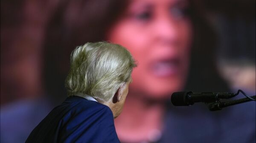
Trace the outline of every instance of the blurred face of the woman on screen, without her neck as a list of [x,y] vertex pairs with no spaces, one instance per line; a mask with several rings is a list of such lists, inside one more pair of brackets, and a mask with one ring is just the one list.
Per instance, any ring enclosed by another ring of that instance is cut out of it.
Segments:
[[189,67],[192,25],[184,0],[131,0],[108,40],[138,61],[130,93],[163,99],[182,90]]

